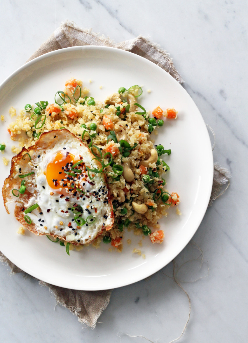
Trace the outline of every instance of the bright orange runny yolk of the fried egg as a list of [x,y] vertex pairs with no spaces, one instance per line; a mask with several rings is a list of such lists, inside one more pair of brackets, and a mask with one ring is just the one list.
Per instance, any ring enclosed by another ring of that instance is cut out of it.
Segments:
[[[71,163],[71,162],[75,164],[76,162],[78,162],[78,159],[76,159],[75,156],[71,153],[59,152],[54,158],[54,160],[51,163],[49,163],[47,166],[46,177],[47,177],[48,185],[51,188],[56,189],[57,192],[60,188],[67,187],[67,186],[63,186],[63,184],[64,185],[66,184],[66,181],[67,181],[66,178],[69,176],[68,174],[64,173],[64,167],[66,166],[66,163]],[[63,184],[61,186],[60,181],[62,179],[63,179],[62,181]]]

